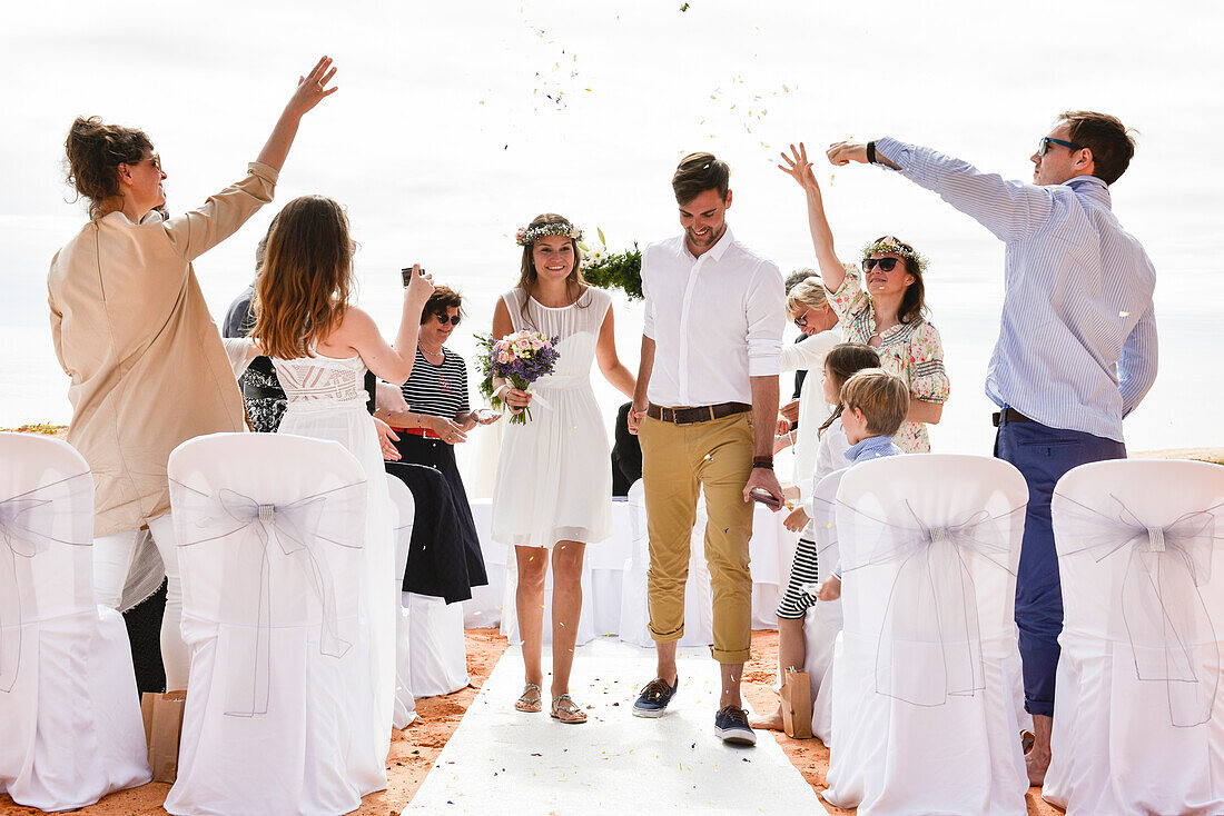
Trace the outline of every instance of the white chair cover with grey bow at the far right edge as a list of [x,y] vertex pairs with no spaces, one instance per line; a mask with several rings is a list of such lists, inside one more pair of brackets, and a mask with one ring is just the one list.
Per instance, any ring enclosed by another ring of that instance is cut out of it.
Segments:
[[1224,812],[1224,469],[1082,465],[1050,514],[1064,618],[1045,800]]

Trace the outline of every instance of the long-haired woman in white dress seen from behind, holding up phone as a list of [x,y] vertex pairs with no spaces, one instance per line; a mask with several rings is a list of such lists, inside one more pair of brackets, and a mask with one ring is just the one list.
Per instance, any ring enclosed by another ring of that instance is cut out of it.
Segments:
[[[387,787],[395,691],[395,604],[387,580],[395,569],[390,497],[375,418],[366,410],[366,368],[403,384],[412,371],[421,310],[433,291],[414,267],[404,290],[395,344],[387,345],[373,319],[349,305],[353,241],[344,210],[330,198],[304,196],[285,206],[268,236],[256,284],[253,341],[236,341],[242,360],[272,358],[289,405],[279,433],[338,442],[366,472],[361,613],[370,624],[371,688],[354,690],[357,712],[368,712],[367,735],[353,745],[349,771],[365,795]],[[235,351],[235,341],[226,345]]]

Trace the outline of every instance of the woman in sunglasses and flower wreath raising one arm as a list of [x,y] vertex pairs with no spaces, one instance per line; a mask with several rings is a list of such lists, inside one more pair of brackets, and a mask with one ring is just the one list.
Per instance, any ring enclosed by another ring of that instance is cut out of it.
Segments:
[[[834,234],[825,218],[820,185],[808,161],[808,150],[792,144],[780,170],[803,187],[808,198],[808,226],[846,343],[864,343],[880,354],[880,367],[900,376],[909,387],[909,411],[892,440],[907,454],[930,450],[927,425],[939,422],[947,401],[944,345],[939,330],[927,321],[923,274],[927,258],[891,236],[863,247],[862,264],[842,264],[834,252]],[[867,287],[863,287],[863,276]]]

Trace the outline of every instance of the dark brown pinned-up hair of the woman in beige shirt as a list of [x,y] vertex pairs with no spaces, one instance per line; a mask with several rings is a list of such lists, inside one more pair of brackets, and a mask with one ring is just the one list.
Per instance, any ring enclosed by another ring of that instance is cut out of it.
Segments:
[[64,142],[67,182],[89,199],[89,220],[119,209],[119,165],[136,164],[153,152],[144,131],[106,125],[98,116],[77,116]]

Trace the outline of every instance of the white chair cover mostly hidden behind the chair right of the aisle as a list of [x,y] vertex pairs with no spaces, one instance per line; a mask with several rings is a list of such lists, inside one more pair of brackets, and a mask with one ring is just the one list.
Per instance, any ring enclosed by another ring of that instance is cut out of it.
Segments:
[[[812,526],[816,537],[816,564],[821,582],[836,571],[841,562],[834,508],[845,473],[845,469],[829,473],[816,483],[812,494]],[[813,587],[813,595],[815,588],[818,587]],[[803,670],[812,679],[812,734],[829,747],[832,747],[834,644],[841,628],[841,598],[818,602],[808,610],[803,623],[803,639],[807,644]]]

